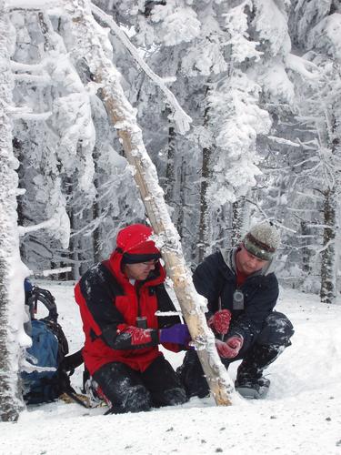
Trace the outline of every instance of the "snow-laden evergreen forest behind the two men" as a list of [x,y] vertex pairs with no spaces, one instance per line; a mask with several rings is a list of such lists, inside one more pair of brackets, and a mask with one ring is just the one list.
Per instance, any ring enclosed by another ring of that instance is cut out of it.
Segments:
[[267,219],[281,285],[335,304],[340,62],[339,0],[0,0],[3,295],[145,222],[133,119],[190,267]]

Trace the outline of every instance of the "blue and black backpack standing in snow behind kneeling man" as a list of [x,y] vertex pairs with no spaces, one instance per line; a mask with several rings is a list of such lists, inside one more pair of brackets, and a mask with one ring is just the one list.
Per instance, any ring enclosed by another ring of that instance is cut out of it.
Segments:
[[[35,319],[39,303],[48,310],[48,315],[43,319]],[[38,404],[54,401],[63,393],[78,401],[70,384],[70,376],[83,363],[82,352],[79,350],[67,356],[68,343],[57,322],[54,296],[47,289],[32,286],[26,280],[25,305],[29,314],[25,330],[32,338],[31,348],[26,349],[28,368],[21,373],[25,402]]]

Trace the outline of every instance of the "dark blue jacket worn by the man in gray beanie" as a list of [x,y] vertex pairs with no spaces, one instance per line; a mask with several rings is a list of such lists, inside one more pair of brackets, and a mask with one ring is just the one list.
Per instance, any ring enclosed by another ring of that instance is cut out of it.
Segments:
[[234,254],[229,252],[227,259],[220,251],[208,256],[199,264],[193,276],[196,291],[208,300],[208,315],[221,307],[232,313],[230,329],[226,338],[240,334],[247,348],[260,333],[267,316],[272,312],[278,298],[278,282],[274,273],[262,272],[250,275],[240,287],[244,294],[244,309],[233,309],[233,294],[236,286]]

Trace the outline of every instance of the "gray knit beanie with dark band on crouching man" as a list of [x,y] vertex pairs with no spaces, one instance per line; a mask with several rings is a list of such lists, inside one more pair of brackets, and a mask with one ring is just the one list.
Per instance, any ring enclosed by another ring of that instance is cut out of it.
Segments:
[[270,260],[279,247],[281,238],[273,223],[262,221],[251,227],[243,240],[243,245],[256,258]]

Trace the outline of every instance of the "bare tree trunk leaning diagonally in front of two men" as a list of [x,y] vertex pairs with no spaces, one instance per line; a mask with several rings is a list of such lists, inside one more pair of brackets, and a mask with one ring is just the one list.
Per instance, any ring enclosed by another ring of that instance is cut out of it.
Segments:
[[65,4],[71,16],[71,32],[74,47],[69,49],[75,60],[85,58],[101,85],[102,97],[108,115],[118,130],[125,157],[134,169],[134,177],[149,220],[157,234],[156,242],[162,250],[167,274],[172,278],[176,297],[183,311],[192,339],[196,343],[198,357],[203,365],[207,383],[216,403],[229,405],[238,400],[233,383],[228,377],[216,352],[215,337],[206,326],[206,302],[196,294],[192,278],[183,257],[176,228],[171,222],[164,194],[158,185],[155,166],[145,151],[141,129],[136,124],[135,110],[125,98],[120,75],[105,55],[108,48],[106,32],[101,32],[91,15],[87,0],[75,0]]

